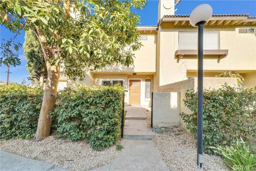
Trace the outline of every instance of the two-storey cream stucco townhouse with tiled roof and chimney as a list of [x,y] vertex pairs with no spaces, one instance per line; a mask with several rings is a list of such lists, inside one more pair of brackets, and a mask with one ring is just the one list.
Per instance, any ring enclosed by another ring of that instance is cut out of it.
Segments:
[[[234,71],[243,76],[245,87],[256,86],[256,17],[213,15],[204,28],[204,77]],[[189,15],[174,15],[174,0],[159,1],[157,26],[138,29],[143,46],[135,52],[133,67],[89,71],[79,83],[111,86],[119,82],[127,90],[127,104],[149,105],[151,92],[197,77],[197,28],[190,25]],[[61,78],[59,86],[74,85]]]

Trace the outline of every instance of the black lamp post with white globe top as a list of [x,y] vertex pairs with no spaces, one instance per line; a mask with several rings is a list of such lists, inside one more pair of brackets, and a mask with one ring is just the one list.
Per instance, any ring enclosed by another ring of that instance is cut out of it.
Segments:
[[212,7],[208,4],[197,6],[190,14],[190,24],[198,27],[197,60],[197,165],[203,169],[203,32],[204,24],[212,17]]

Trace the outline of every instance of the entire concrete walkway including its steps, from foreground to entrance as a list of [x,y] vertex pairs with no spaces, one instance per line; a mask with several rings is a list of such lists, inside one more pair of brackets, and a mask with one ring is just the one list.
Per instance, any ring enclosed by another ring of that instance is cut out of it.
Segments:
[[146,123],[146,109],[126,107],[122,149],[118,157],[110,164],[95,169],[106,170],[169,170],[162,160],[158,149],[154,147],[153,130]]

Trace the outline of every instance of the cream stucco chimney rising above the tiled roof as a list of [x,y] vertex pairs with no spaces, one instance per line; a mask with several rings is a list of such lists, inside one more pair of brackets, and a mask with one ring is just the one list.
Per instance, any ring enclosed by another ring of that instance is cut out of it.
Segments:
[[159,0],[158,2],[158,18],[163,18],[164,15],[174,15],[174,1],[175,0]]

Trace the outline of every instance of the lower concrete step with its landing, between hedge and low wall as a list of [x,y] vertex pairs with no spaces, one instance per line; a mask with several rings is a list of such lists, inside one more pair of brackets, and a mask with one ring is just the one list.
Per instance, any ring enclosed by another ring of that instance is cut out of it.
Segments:
[[124,139],[151,140],[154,139],[154,133],[146,120],[128,119],[125,120]]

